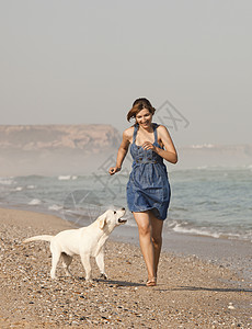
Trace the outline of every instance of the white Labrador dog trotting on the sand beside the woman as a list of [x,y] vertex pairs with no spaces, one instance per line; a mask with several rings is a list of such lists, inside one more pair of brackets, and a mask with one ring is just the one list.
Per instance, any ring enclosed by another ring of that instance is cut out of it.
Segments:
[[36,236],[25,239],[23,242],[26,243],[37,240],[50,242],[51,279],[56,277],[56,266],[60,257],[66,274],[71,275],[69,265],[75,254],[81,257],[87,281],[92,281],[90,257],[95,258],[102,276],[106,279],[107,275],[104,271],[104,243],[116,226],[127,222],[126,219],[122,219],[125,212],[125,208],[119,211],[106,211],[94,223],[87,227],[62,230],[56,236]]

